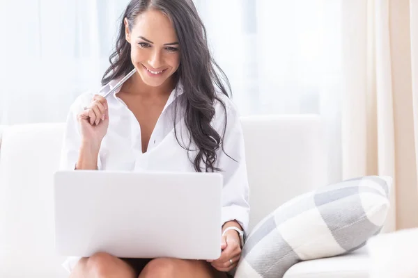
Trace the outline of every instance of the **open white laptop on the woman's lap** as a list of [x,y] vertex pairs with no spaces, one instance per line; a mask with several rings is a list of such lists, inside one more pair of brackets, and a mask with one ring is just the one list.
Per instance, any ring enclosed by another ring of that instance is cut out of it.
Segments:
[[217,259],[221,192],[213,173],[56,172],[56,252]]

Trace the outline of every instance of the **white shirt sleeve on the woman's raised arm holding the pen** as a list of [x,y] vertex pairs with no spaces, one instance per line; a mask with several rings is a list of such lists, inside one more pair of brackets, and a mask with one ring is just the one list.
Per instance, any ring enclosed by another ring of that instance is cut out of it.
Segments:
[[[82,112],[84,109],[83,107],[88,105],[90,101],[91,94],[85,93],[77,97],[70,107],[63,134],[63,145],[61,147],[61,160],[59,165],[60,170],[75,170],[82,142],[77,115]],[[100,156],[98,156],[98,170],[101,170],[101,164]]]

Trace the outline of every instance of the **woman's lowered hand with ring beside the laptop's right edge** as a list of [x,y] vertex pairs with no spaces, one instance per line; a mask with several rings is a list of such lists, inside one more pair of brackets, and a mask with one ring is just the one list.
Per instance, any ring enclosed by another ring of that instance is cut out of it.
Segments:
[[221,249],[219,259],[208,262],[219,271],[229,272],[237,266],[241,258],[240,236],[237,231],[229,230],[222,236]]

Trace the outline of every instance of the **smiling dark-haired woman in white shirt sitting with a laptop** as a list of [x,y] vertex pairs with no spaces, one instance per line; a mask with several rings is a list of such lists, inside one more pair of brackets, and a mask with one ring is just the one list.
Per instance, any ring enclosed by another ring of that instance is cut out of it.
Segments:
[[[248,222],[244,141],[192,0],[130,1],[110,61],[109,85],[70,109],[61,169],[221,172],[222,254],[189,261],[98,253],[66,261],[70,277],[226,277]],[[114,95],[101,96],[134,68]]]

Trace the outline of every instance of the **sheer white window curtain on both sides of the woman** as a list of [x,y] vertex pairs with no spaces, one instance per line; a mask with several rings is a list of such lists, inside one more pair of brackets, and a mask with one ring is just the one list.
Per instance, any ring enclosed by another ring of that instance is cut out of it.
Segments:
[[[0,124],[62,122],[98,88],[128,0],[0,2]],[[341,179],[341,1],[195,0],[242,115],[323,116]]]

